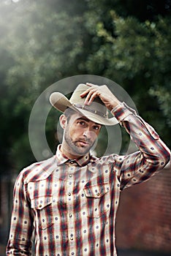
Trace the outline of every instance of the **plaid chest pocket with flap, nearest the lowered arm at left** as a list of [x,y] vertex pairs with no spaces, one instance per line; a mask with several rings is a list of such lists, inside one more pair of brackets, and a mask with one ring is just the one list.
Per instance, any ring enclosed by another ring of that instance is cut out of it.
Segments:
[[35,212],[36,225],[42,230],[53,225],[52,200],[52,195],[43,195],[31,199],[31,208]]

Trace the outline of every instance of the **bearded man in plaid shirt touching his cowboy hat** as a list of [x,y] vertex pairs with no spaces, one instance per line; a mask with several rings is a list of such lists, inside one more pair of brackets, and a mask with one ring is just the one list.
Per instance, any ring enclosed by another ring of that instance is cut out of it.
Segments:
[[[7,255],[30,255],[33,233],[37,256],[117,255],[115,215],[121,190],[161,170],[170,151],[107,86],[80,84],[70,100],[55,92],[50,102],[64,112],[64,137],[54,157],[18,176]],[[118,122],[140,150],[126,156],[91,156],[102,125]]]

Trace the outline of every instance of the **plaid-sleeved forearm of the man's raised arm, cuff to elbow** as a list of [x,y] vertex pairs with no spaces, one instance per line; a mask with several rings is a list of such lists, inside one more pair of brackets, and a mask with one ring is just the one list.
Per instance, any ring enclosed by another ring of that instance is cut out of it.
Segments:
[[125,103],[116,106],[111,111],[134,143],[140,149],[143,160],[153,165],[153,170],[159,170],[170,160],[170,150],[159,138],[156,131],[147,124],[136,112],[127,107]]

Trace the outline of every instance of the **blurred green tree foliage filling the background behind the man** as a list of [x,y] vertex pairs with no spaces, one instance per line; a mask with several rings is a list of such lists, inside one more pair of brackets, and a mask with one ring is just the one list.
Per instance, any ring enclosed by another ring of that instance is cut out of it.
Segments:
[[[170,6],[136,3],[1,1],[1,172],[34,161],[28,142],[34,102],[47,86],[72,75],[101,75],[121,84],[171,146]],[[55,115],[50,113],[46,127],[53,149]]]

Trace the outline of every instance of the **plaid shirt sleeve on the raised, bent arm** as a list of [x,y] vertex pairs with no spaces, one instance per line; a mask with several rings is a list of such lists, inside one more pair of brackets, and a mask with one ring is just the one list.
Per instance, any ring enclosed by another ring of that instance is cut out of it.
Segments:
[[148,180],[163,169],[170,161],[170,150],[153,127],[125,103],[121,103],[111,112],[139,148],[133,154],[115,158],[115,168],[119,169],[122,190]]

